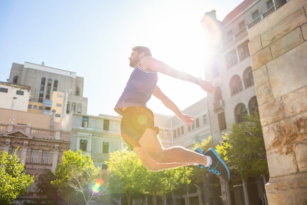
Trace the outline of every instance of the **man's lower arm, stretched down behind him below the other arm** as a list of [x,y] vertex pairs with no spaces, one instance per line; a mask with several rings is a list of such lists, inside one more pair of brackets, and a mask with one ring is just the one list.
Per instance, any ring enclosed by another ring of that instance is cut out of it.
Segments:
[[177,107],[177,105],[175,105],[175,103],[170,100],[162,91],[159,87],[155,87],[153,90],[153,95],[158,98],[159,100],[162,101],[162,103],[169,108],[171,111],[173,111],[175,113],[175,115],[181,119],[184,123],[188,124],[189,126],[191,126],[193,124],[194,121],[194,117],[192,116],[188,116],[185,115],[183,113],[181,113],[181,111],[179,110],[179,108]]

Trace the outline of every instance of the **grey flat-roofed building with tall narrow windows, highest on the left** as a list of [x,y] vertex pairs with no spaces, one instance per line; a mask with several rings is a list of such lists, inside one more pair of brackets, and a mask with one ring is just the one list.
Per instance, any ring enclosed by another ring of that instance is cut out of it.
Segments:
[[[84,79],[78,77],[75,72],[48,67],[44,62],[41,65],[29,62],[13,63],[8,83],[30,87],[30,101],[43,103],[38,106],[46,108],[42,110],[44,114],[51,115],[51,110],[56,110],[56,107],[51,108],[51,96],[54,91],[68,96],[67,102],[62,107],[65,113],[87,113],[87,98],[83,97]],[[29,109],[33,110],[32,107]],[[62,115],[62,113],[56,114]]]

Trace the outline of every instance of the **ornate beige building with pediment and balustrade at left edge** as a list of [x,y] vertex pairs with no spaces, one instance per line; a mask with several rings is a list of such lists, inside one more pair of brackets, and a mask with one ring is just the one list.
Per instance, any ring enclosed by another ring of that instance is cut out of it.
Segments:
[[69,144],[70,130],[62,130],[52,116],[0,108],[0,150],[16,153],[26,174],[34,175],[35,182],[21,199],[40,197],[35,189],[38,176],[45,169],[55,170]]

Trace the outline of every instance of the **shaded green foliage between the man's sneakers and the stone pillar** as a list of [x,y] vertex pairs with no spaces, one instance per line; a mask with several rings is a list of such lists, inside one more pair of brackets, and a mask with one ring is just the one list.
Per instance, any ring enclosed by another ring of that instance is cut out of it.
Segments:
[[230,131],[230,135],[223,135],[225,142],[216,149],[230,170],[237,174],[238,180],[268,175],[262,127],[257,112],[246,116],[244,122],[233,124]]

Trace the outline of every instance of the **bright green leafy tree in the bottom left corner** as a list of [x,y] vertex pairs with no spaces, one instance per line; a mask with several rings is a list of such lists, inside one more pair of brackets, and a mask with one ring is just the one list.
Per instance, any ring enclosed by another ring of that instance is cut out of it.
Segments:
[[0,151],[0,204],[10,205],[19,194],[24,194],[34,176],[26,175],[24,163],[6,151]]

